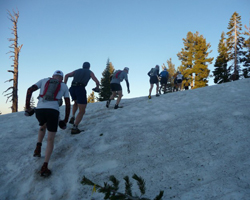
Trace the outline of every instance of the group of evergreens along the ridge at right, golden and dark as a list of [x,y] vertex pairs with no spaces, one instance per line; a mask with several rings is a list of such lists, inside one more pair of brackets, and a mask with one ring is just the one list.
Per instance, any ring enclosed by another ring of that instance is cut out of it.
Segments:
[[[218,57],[214,64],[214,83],[224,83],[241,78],[249,78],[250,75],[250,23],[245,25],[246,31],[242,32],[241,17],[234,12],[228,24],[228,32],[222,32],[218,45]],[[226,37],[227,36],[227,37]],[[245,36],[246,38],[244,38]],[[167,67],[170,72],[170,82],[173,85],[173,77],[180,71],[184,76],[183,84],[188,82],[191,88],[207,86],[211,64],[214,58],[209,57],[212,52],[209,50],[210,43],[206,42],[199,32],[188,32],[183,39],[184,47],[177,54],[181,65],[175,70],[170,60],[167,60]],[[174,70],[173,70],[174,69]],[[173,75],[174,72],[174,75]]]

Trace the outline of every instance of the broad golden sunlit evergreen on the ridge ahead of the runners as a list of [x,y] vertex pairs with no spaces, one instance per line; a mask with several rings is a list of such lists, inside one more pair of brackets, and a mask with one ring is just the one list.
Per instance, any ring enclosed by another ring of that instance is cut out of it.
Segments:
[[[183,41],[184,48],[177,54],[182,63],[178,70],[183,74],[184,79],[191,83],[191,88],[207,86],[210,72],[208,64],[213,61],[213,58],[208,57],[211,53],[208,51],[211,45],[198,32],[195,34],[188,32],[187,38]],[[195,81],[194,85],[193,81]]]

